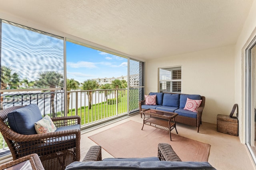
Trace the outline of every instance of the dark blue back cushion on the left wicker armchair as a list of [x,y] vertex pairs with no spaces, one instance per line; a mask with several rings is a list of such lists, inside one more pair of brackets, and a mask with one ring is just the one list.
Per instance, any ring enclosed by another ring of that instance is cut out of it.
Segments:
[[11,111],[7,118],[13,131],[23,135],[34,135],[37,134],[34,123],[42,119],[42,114],[36,104],[30,104]]

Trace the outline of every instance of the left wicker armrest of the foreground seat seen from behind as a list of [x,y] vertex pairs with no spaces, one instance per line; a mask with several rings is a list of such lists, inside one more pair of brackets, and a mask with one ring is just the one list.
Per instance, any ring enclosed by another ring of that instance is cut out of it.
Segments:
[[101,146],[95,145],[90,147],[82,162],[100,161],[102,160]]

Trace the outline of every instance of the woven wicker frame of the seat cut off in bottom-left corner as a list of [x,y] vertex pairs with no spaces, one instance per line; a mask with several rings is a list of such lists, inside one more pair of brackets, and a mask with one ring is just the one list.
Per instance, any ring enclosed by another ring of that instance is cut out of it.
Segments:
[[7,168],[11,168],[12,170],[18,170],[21,168],[24,168],[23,163],[25,161],[29,160],[32,170],[44,170],[44,167],[42,165],[42,162],[40,161],[40,158],[37,154],[30,154],[27,156],[23,156],[21,158],[18,158],[12,162],[6,163],[2,166],[0,166],[0,170],[5,170]]

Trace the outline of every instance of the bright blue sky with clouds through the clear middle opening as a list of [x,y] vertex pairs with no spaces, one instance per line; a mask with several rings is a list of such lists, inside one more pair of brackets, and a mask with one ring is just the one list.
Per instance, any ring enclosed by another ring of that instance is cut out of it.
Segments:
[[127,59],[66,42],[67,78],[83,82],[92,78],[127,75]]

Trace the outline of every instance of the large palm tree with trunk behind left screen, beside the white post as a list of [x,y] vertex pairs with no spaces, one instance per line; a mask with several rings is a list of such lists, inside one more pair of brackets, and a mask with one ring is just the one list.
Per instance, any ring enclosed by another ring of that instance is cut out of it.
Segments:
[[[35,82],[35,86],[40,88],[56,88],[63,87],[63,75],[55,71],[44,71],[39,74],[38,80]],[[50,90],[55,92],[55,90]],[[56,117],[54,110],[54,93],[51,93],[51,107],[52,107],[52,117]]]

